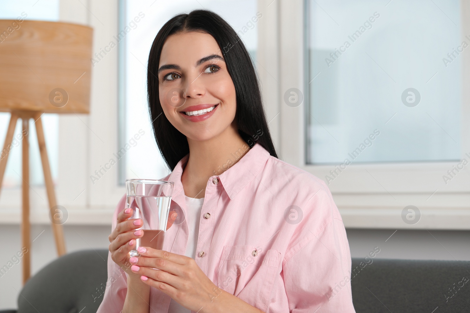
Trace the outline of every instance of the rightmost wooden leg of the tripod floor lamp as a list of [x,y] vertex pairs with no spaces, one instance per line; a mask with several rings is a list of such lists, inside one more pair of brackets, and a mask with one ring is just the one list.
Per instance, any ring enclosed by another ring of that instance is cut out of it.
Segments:
[[[44,139],[41,114],[41,112],[38,112],[33,115],[33,118],[36,121],[36,134],[38,135],[39,152],[41,154],[42,169],[44,171],[44,182],[47,189],[47,199],[49,200],[50,216],[52,221],[51,226],[54,232],[55,246],[57,248],[57,254],[61,256],[66,253],[62,228],[62,224],[65,221],[62,219],[63,212],[61,212],[61,209],[56,208],[57,202],[55,200],[54,183],[52,182],[51,168],[49,166],[49,159],[47,157],[46,140]],[[56,220],[55,216],[60,216],[61,218]]]

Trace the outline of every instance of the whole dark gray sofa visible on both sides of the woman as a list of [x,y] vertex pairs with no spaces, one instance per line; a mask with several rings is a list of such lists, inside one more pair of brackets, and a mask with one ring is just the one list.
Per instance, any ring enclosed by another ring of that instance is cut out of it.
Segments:
[[[83,250],[54,260],[26,282],[18,310],[0,313],[96,312],[107,259],[108,250]],[[352,259],[352,300],[357,313],[469,313],[469,278],[470,261]]]

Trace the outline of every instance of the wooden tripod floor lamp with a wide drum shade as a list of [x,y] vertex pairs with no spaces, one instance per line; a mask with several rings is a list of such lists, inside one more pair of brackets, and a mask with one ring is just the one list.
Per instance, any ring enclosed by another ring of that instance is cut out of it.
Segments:
[[31,275],[29,199],[29,120],[34,119],[49,203],[51,226],[59,256],[65,254],[62,223],[55,222],[57,205],[42,127],[43,113],[86,113],[90,108],[93,30],[72,23],[0,20],[0,111],[10,112],[1,151],[0,190],[18,119],[22,120],[22,246],[23,284]]

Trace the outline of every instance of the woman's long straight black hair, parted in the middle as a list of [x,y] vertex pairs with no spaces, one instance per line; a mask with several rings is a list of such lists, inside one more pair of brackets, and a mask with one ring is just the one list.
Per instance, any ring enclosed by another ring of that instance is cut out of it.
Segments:
[[[220,51],[223,53],[228,73],[235,85],[235,120],[240,136],[251,147],[258,143],[269,154],[277,158],[263,110],[258,78],[243,42],[220,15],[210,10],[193,10],[189,14],[175,15],[166,22],[158,31],[149,53],[147,71],[149,113],[153,121],[158,148],[168,167],[173,170],[176,164],[189,153],[189,146],[186,136],[177,130],[163,113],[156,74],[166,38],[184,31],[208,33],[217,41]],[[227,49],[227,47],[230,48]]]

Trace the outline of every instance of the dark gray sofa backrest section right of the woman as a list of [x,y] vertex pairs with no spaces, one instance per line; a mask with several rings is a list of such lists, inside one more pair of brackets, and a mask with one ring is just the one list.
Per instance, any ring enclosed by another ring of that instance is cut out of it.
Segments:
[[375,259],[364,264],[364,259],[352,259],[357,313],[470,313],[470,261]]

